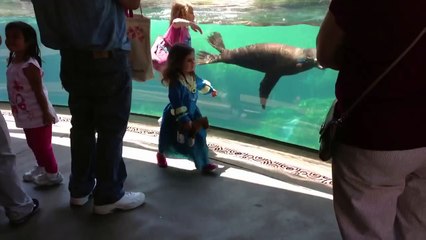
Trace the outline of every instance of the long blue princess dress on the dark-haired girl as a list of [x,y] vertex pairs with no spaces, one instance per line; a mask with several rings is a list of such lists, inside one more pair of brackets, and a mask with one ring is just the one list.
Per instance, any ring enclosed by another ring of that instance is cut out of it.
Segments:
[[[188,145],[188,137],[185,134],[185,142],[177,141],[178,125],[201,118],[201,112],[197,107],[198,92],[209,94],[214,91],[210,82],[195,75],[181,78],[175,86],[169,87],[170,103],[164,108],[158,152],[166,157],[187,158],[195,163],[195,167],[202,170],[210,163],[206,142],[206,130],[201,128],[195,136],[195,144]],[[195,80],[195,82],[194,82]]]

